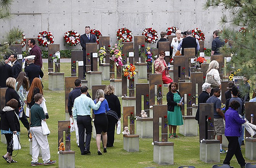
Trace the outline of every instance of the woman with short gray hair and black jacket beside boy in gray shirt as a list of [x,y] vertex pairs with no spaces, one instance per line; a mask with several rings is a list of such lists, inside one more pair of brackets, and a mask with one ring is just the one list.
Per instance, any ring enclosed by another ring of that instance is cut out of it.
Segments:
[[198,109],[196,111],[196,118],[195,118],[198,121],[198,125],[199,125],[199,116],[200,116],[199,104],[206,103],[206,100],[209,99],[210,97],[209,93],[211,92],[211,84],[204,83],[202,85],[202,90],[203,92],[198,96]]

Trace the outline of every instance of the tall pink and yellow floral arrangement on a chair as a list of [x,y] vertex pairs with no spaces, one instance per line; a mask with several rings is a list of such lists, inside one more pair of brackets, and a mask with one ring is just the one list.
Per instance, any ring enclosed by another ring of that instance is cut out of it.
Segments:
[[118,44],[116,43],[112,49],[110,49],[110,60],[112,61],[111,66],[114,64],[116,66],[123,66],[123,58],[122,58],[122,52],[121,48],[123,47],[122,40],[118,41]]

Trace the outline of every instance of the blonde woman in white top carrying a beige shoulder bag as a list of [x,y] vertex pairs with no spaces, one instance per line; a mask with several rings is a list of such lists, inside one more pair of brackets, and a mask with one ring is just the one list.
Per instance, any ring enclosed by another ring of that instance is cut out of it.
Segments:
[[[206,79],[205,81],[207,81],[207,75],[212,75],[214,77],[214,80],[219,84],[219,88],[221,90],[221,79],[220,79],[220,73],[218,71],[219,69],[219,63],[216,60],[212,60],[209,64],[209,68],[206,71]],[[212,92],[210,94],[210,96],[212,96]]]

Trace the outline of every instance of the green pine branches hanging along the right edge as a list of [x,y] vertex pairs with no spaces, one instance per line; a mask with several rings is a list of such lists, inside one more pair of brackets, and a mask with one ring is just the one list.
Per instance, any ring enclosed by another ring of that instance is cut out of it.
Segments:
[[[233,40],[232,47],[224,47],[221,52],[227,57],[232,56],[232,69],[241,69],[237,76],[247,74],[251,88],[256,82],[256,0],[206,0],[204,9],[222,8],[220,18],[221,37]],[[239,32],[241,27],[245,31]]]

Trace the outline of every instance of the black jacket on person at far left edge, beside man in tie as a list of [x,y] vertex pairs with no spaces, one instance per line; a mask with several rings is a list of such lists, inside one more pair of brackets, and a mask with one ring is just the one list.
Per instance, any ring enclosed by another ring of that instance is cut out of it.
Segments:
[[0,64],[0,87],[6,87],[6,79],[13,77],[13,71],[10,65],[4,62],[0,62]]

